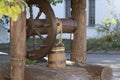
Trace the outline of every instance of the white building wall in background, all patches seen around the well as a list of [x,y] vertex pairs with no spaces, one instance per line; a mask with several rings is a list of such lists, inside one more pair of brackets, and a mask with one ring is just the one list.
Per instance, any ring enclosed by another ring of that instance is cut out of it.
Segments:
[[[86,6],[86,27],[87,27],[87,38],[93,38],[97,37],[97,31],[96,27],[89,27],[88,26],[88,1]],[[111,3],[113,5],[114,12],[120,15],[120,0],[111,0]],[[57,4],[56,6],[52,5],[52,8],[55,12],[56,17],[58,18],[65,18],[65,1],[63,0],[63,3]],[[34,14],[36,15],[38,12],[38,9],[34,8]],[[96,0],[96,9],[95,9],[96,15],[95,15],[95,21],[96,24],[101,23],[105,17],[111,17],[110,11],[108,10],[108,4],[106,0]],[[27,14],[28,16],[29,14]],[[42,16],[44,17],[44,15]],[[3,35],[4,34],[4,35]],[[63,35],[64,38],[70,38],[69,35],[65,34]],[[2,29],[0,27],[0,42],[8,42],[8,33],[6,30]]]

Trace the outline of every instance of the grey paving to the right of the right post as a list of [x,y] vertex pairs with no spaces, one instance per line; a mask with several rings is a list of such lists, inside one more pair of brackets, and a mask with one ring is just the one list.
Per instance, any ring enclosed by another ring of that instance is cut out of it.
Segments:
[[87,63],[111,67],[113,69],[113,80],[120,80],[120,55],[88,54]]

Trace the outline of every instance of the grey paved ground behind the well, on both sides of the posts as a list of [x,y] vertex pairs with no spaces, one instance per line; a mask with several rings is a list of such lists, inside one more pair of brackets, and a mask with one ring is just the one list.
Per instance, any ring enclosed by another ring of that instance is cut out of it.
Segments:
[[[8,53],[8,49],[0,49],[0,62],[8,62],[10,60]],[[67,54],[67,58],[69,58],[69,56],[70,55]],[[111,67],[114,75],[113,80],[120,80],[120,54],[87,54],[86,62]]]

